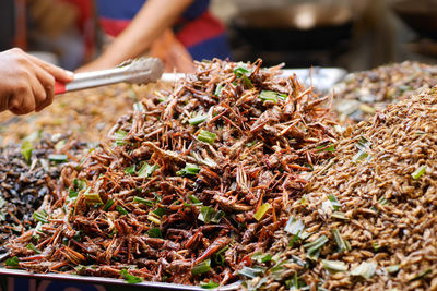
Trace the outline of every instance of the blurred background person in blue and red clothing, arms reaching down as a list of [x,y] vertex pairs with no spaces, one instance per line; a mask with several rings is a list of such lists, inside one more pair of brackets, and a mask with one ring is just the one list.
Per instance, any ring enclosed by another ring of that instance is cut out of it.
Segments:
[[96,0],[96,5],[103,31],[114,39],[79,71],[108,69],[147,53],[163,59],[167,71],[190,72],[192,60],[231,54],[209,0]]

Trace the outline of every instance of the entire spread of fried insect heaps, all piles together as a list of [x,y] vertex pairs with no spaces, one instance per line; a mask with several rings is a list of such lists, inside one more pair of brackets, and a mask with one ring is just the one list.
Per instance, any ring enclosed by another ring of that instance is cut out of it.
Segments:
[[[23,131],[4,118],[3,143],[22,141],[1,156],[4,268],[247,290],[436,289],[436,74],[390,64],[332,97],[261,60],[213,60],[172,85],[66,95],[46,112],[57,124],[45,111]],[[39,126],[58,135],[22,140]]]

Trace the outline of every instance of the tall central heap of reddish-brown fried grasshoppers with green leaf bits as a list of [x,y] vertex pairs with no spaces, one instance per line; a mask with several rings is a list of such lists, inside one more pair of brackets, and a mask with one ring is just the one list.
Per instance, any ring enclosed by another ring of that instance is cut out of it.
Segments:
[[[277,68],[214,60],[134,106],[11,241],[19,267],[225,284],[267,251],[303,173],[332,157],[320,98]],[[26,247],[32,243],[35,250]]]

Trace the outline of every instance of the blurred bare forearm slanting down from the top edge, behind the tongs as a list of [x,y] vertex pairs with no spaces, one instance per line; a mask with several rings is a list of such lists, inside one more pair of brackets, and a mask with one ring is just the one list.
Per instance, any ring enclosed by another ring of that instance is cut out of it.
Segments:
[[192,0],[147,0],[132,23],[102,54],[110,65],[144,53],[170,27]]

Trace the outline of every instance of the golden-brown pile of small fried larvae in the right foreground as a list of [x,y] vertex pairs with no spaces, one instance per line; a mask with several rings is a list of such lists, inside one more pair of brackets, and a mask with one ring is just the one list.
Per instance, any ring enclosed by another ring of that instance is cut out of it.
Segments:
[[344,132],[246,288],[436,290],[436,121],[432,88]]

